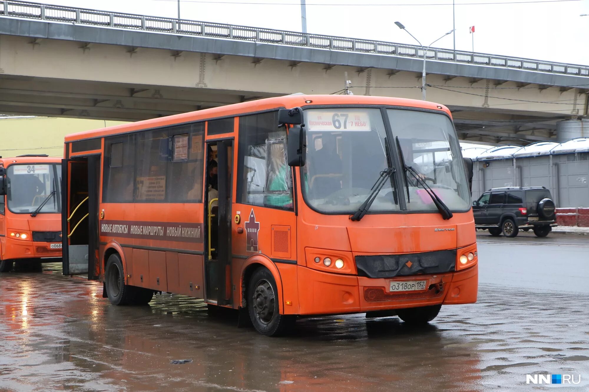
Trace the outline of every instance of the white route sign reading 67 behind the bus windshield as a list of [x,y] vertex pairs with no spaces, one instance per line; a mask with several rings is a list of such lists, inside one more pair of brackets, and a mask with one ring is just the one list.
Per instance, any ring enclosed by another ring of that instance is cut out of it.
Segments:
[[370,116],[365,111],[305,112],[309,131],[370,131]]

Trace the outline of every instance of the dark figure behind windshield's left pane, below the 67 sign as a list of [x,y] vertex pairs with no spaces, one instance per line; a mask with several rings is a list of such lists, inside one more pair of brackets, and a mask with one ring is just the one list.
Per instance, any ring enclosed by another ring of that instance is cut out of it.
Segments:
[[[342,158],[337,154],[336,136],[329,133],[323,134],[321,148],[313,155],[311,181],[315,197],[325,198],[342,189]],[[331,174],[335,175],[329,177]]]

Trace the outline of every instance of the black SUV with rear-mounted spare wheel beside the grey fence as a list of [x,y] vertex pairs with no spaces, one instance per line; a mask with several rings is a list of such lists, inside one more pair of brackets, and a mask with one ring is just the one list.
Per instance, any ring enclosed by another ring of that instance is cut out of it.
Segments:
[[557,226],[554,207],[545,187],[493,188],[472,202],[476,227],[505,237],[530,229],[538,237],[546,237]]

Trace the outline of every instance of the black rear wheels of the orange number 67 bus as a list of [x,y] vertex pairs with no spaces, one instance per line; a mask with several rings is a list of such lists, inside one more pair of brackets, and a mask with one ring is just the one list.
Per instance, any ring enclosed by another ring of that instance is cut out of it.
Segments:
[[108,300],[113,305],[146,305],[153,298],[153,290],[125,284],[123,262],[117,254],[108,257],[104,283]]

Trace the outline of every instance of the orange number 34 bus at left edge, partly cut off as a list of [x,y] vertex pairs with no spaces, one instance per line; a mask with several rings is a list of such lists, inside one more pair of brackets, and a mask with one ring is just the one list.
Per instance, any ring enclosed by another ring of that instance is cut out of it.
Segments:
[[0,272],[61,259],[61,158],[0,157]]

